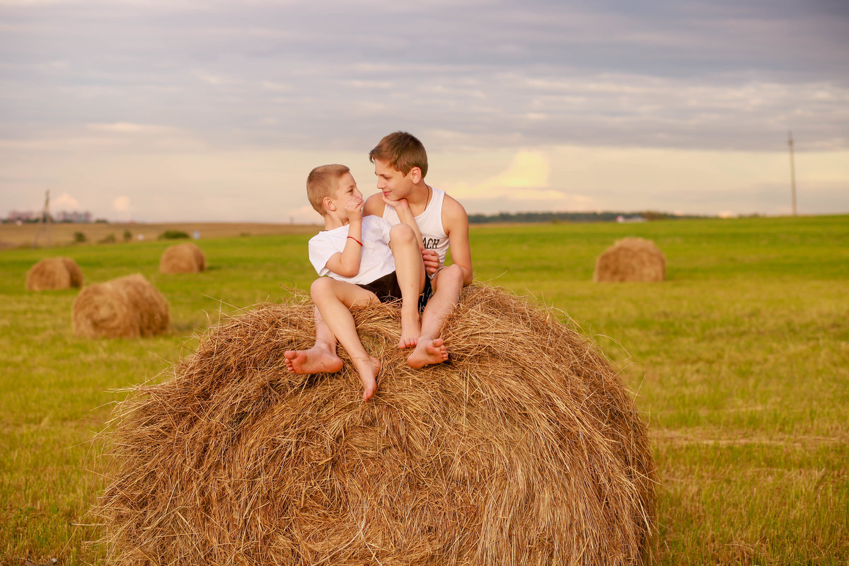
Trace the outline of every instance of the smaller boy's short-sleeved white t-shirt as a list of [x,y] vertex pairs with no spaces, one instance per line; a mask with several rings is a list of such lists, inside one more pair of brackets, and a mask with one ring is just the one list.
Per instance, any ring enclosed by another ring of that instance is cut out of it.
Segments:
[[310,263],[318,275],[328,275],[340,281],[364,285],[395,271],[395,258],[389,247],[391,224],[380,216],[363,216],[363,249],[360,255],[360,271],[354,277],[342,277],[327,268],[330,257],[345,249],[348,227],[323,230],[310,238]]

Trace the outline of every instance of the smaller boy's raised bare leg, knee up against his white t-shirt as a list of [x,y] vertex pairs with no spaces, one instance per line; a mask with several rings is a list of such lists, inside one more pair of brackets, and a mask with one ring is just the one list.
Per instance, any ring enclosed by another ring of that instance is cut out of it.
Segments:
[[401,288],[401,340],[398,348],[413,348],[419,339],[419,294],[424,289],[424,261],[413,228],[393,226],[389,245],[395,258],[395,274]]

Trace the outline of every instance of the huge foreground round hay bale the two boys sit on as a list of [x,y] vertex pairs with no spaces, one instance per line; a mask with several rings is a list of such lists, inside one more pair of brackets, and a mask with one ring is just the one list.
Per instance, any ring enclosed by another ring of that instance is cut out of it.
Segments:
[[96,513],[115,564],[633,564],[655,529],[646,425],[593,345],[496,289],[464,290],[451,359],[412,369],[400,312],[355,309],[383,360],[368,403],[287,373],[312,304],[209,329],[117,409]]

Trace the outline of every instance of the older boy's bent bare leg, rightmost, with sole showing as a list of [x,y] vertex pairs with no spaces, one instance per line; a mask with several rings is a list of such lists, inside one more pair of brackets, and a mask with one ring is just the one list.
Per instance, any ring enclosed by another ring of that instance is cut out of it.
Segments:
[[458,266],[447,266],[434,277],[434,294],[422,313],[422,333],[415,350],[407,357],[410,367],[424,367],[448,359],[445,343],[439,337],[442,323],[460,297],[463,289],[463,272]]

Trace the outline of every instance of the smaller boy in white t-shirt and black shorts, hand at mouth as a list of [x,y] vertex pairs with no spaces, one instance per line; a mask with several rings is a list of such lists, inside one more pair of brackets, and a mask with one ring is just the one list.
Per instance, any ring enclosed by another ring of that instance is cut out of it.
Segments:
[[[310,287],[318,311],[316,346],[285,352],[286,366],[292,373],[339,371],[338,339],[363,382],[363,401],[368,401],[377,389],[380,360],[363,348],[351,307],[401,299],[401,344],[418,336],[419,294],[430,286],[419,249],[421,236],[408,211],[400,213],[411,223],[396,226],[378,216],[363,217],[363,194],[345,165],[313,169],[306,178],[306,193],[324,217],[323,232],[309,242],[310,261],[319,276],[329,277],[318,277]],[[331,343],[332,356],[310,356],[328,350]]]

